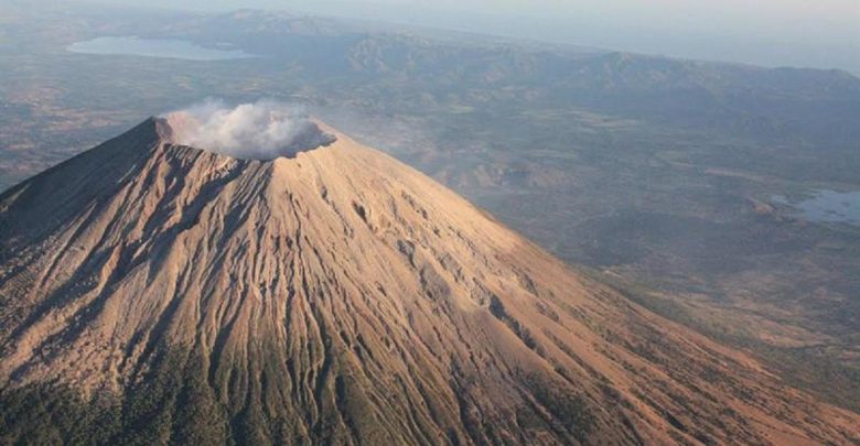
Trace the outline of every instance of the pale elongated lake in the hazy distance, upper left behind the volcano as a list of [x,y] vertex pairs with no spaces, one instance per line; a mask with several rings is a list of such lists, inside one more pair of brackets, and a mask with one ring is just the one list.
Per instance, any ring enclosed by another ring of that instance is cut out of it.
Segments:
[[176,39],[97,37],[76,42],[66,47],[72,53],[135,55],[144,57],[180,58],[184,61],[230,61],[257,57],[240,50],[207,48]]

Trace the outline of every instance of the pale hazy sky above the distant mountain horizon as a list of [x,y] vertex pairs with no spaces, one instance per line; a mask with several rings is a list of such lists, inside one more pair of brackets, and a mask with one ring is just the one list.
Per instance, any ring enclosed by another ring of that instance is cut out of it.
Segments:
[[[174,8],[171,0],[106,0]],[[186,0],[376,19],[700,59],[860,73],[860,0]]]

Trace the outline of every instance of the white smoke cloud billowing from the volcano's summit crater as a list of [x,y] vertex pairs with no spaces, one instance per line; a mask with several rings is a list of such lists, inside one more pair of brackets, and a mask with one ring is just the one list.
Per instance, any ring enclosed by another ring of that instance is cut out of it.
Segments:
[[236,107],[207,100],[162,118],[171,127],[173,143],[238,159],[292,157],[335,140],[320,130],[301,107],[275,100]]

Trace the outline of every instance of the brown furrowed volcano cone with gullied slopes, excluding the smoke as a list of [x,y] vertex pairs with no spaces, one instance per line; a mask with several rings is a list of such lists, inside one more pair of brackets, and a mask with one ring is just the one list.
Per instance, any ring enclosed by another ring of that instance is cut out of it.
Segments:
[[150,119],[0,195],[2,443],[860,440],[322,127],[259,161]]

